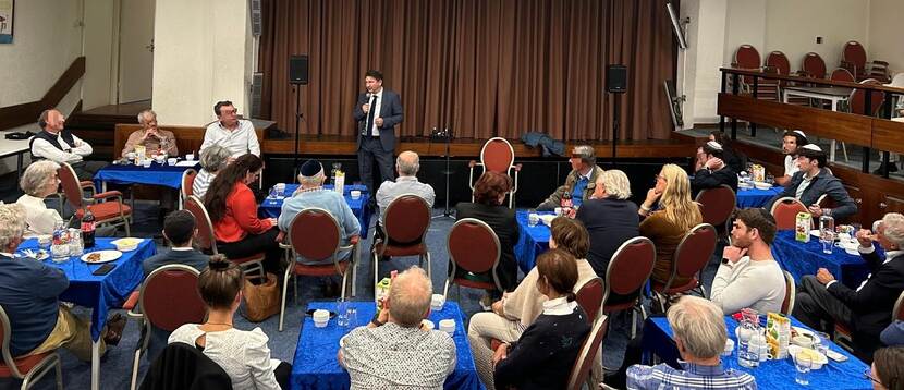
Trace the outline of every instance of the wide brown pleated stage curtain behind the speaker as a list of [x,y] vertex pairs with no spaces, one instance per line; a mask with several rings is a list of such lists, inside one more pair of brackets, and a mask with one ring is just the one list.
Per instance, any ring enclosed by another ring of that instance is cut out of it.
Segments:
[[620,139],[665,139],[667,0],[264,0],[262,111],[294,129],[289,57],[310,56],[303,134],[354,135],[364,73],[402,96],[403,136],[611,139],[606,65],[628,69]]

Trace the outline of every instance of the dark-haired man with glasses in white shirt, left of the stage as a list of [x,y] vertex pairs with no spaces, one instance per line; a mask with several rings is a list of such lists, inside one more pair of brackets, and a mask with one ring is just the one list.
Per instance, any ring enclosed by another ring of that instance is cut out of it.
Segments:
[[200,153],[210,146],[220,145],[239,158],[245,154],[260,157],[260,143],[257,141],[257,133],[251,121],[239,119],[239,109],[232,101],[218,101],[213,106],[213,113],[218,121],[210,123],[204,132],[204,142],[200,144]]

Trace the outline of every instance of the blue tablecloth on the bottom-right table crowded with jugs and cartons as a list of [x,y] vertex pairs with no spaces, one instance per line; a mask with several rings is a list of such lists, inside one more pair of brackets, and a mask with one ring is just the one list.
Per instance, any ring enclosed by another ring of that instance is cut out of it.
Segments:
[[[791,324],[796,327],[807,328],[794,317],[791,317]],[[734,329],[737,327],[737,321],[732,317],[725,317],[725,325],[728,326],[729,338],[735,340],[736,345],[737,339],[734,336]],[[676,366],[679,353],[672,336],[672,328],[669,326],[665,317],[647,318],[647,321],[644,324],[645,355],[648,356],[649,353],[655,353],[662,362]],[[831,345],[831,349],[847,356],[847,361],[842,363],[829,361],[829,364],[822,366],[822,368],[810,371],[810,389],[872,389],[872,382],[864,378],[863,375],[869,366],[834,343]],[[757,368],[745,368],[737,364],[737,346],[735,346],[731,356],[722,356],[722,365],[725,368],[734,368],[749,373],[756,378],[757,387],[760,389],[802,388],[801,385],[794,381],[796,368],[791,357],[763,362]]]

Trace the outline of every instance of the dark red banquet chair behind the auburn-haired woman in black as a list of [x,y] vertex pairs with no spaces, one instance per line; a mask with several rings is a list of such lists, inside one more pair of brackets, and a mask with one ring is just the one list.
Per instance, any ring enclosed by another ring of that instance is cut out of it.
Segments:
[[[462,218],[455,221],[449,230],[445,243],[449,248],[451,269],[442,290],[444,297],[449,296],[451,284],[457,285],[459,300],[462,297],[462,285],[472,289],[504,291],[498,272],[502,245],[489,224],[475,218]],[[492,281],[460,278],[456,276],[459,268],[474,273],[489,272]]]

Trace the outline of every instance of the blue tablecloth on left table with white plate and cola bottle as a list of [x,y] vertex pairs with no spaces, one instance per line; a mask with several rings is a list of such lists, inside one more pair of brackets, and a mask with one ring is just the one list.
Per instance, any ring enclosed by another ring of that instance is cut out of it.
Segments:
[[[101,249],[115,249],[110,242],[115,239],[97,237],[95,246],[86,248],[85,253]],[[38,240],[29,239],[19,245],[19,251],[37,249]],[[100,333],[107,322],[107,312],[111,307],[121,307],[125,298],[144,279],[142,261],[157,253],[157,245],[152,240],[144,240],[138,248],[124,252],[122,257],[111,261],[117,265],[110,273],[105,276],[91,275],[101,267],[99,264],[87,264],[78,257],[70,257],[64,263],[53,263],[49,258],[44,263],[57,267],[69,278],[69,288],[60,295],[61,301],[72,302],[78,306],[90,307],[91,310],[91,340],[100,339]]]

